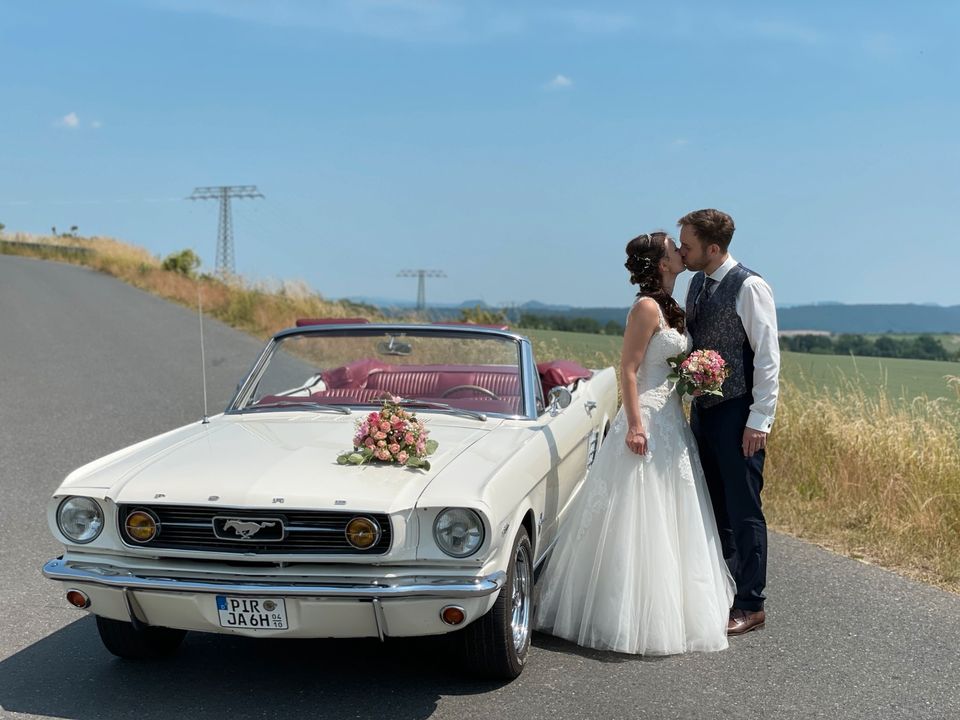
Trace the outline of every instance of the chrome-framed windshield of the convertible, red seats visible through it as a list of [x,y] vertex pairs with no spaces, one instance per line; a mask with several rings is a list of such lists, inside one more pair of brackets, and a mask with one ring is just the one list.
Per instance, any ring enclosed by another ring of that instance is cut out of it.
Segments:
[[394,397],[422,407],[522,412],[520,343],[479,332],[370,328],[277,340],[233,411],[336,411]]

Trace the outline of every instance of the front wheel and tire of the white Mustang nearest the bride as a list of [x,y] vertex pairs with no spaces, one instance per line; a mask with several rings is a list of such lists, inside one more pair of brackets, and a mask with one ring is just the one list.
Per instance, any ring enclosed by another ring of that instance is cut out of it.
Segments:
[[513,540],[507,579],[486,615],[464,628],[464,657],[477,675],[513,680],[522,671],[533,632],[533,548],[526,528]]

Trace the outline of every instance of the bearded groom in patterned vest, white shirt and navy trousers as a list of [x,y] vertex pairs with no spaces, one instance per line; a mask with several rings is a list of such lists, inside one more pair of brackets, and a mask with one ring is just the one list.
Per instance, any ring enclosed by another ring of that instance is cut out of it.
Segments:
[[686,303],[693,348],[716,350],[730,369],[723,397],[694,399],[690,426],[723,555],[737,583],[727,634],[742,635],[766,620],[767,524],[760,491],[767,434],[777,408],[777,313],[770,286],[728,252],[733,218],[719,210],[697,210],[677,225],[680,255],[696,271]]

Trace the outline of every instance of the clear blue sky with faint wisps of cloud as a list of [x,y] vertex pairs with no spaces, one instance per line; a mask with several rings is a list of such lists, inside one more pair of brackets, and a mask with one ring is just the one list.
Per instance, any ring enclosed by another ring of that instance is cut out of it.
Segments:
[[[78,225],[328,297],[625,306],[719,207],[779,304],[960,303],[960,5],[0,3],[7,231]],[[681,283],[682,285],[682,283]]]

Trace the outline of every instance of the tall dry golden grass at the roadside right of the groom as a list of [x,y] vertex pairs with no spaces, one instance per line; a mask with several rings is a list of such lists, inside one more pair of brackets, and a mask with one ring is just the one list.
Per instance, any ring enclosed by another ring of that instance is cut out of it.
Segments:
[[787,384],[767,456],[772,527],[960,591],[960,406]]

